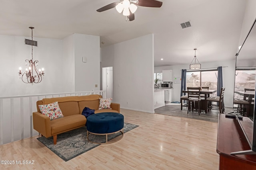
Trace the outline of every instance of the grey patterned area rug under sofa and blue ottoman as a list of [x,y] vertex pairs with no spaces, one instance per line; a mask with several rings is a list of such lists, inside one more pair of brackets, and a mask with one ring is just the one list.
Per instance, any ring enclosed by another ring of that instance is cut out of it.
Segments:
[[[138,125],[124,123],[124,133],[136,127],[138,127]],[[108,141],[118,137],[121,134],[121,132],[118,132],[116,134],[108,135]],[[89,138],[92,141],[100,143],[106,142],[106,135],[90,135]],[[53,145],[53,137],[39,137],[37,139],[64,161],[68,161],[84,152],[87,152],[88,150],[99,146],[99,144],[87,141],[86,126],[58,135],[56,145]]]

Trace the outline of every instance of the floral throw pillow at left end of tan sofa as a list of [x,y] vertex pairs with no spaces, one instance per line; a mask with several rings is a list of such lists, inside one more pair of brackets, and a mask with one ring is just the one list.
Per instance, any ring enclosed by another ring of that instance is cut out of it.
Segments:
[[38,107],[39,107],[41,113],[43,115],[50,117],[51,120],[58,119],[60,117],[64,117],[64,115],[62,115],[62,112],[60,110],[58,102],[44,104],[44,105],[38,105]]

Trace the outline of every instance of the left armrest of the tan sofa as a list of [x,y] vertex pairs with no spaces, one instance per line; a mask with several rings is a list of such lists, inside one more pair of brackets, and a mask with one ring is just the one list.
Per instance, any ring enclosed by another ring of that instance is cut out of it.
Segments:
[[50,117],[39,112],[33,112],[33,127],[36,131],[44,135],[44,137],[51,137],[51,123]]

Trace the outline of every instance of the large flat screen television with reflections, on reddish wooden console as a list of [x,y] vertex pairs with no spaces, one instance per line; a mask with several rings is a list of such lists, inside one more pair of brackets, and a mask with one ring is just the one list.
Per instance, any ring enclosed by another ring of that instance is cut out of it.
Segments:
[[[232,152],[230,154],[256,154],[256,105],[255,105],[255,84],[256,84],[256,19],[254,20],[249,33],[244,40],[242,47],[240,47],[236,54],[236,71],[234,83],[234,98],[240,98],[249,102],[248,109],[246,109],[246,117],[244,119],[241,113],[235,111],[231,113],[234,115],[242,128],[246,137],[250,150],[241,150]],[[251,89],[250,94],[246,94],[245,89]],[[253,91],[254,90],[254,91]],[[250,96],[249,96],[250,95]],[[250,99],[249,99],[250,98]],[[238,106],[233,104],[233,107]],[[227,113],[226,115],[230,115]]]

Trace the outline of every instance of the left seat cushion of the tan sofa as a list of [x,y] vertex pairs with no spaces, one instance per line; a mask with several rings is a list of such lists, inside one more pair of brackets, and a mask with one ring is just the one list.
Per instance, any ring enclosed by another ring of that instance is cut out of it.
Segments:
[[86,118],[84,115],[70,115],[60,119],[54,119],[51,121],[52,135],[58,134],[64,131],[70,131],[85,125]]

